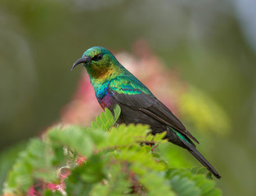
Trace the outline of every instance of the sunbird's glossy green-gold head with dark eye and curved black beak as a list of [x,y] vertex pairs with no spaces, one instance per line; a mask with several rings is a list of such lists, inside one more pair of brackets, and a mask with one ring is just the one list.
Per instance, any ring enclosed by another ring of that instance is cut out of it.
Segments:
[[81,59],[75,61],[76,65],[82,64],[87,69],[90,78],[106,78],[119,67],[119,61],[105,47],[91,47],[83,53]]

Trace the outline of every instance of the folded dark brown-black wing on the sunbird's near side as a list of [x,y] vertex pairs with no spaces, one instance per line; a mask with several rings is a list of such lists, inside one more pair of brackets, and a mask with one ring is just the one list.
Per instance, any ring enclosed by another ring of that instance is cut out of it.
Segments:
[[[156,99],[155,96],[153,96],[153,94],[146,94],[143,91],[141,91],[141,87],[145,87],[141,82],[137,89],[134,89],[135,85],[134,83],[132,84],[132,82],[128,82],[128,85],[129,86],[122,86],[122,88],[119,87],[118,92],[115,91],[111,87],[112,85],[110,84],[108,91],[111,94],[111,96],[113,96],[115,100],[117,100],[119,103],[128,105],[129,107],[132,107],[134,109],[141,110],[142,112],[159,120],[159,122],[163,122],[164,124],[173,127],[175,130],[180,131],[182,134],[190,137],[192,140],[199,144],[199,141],[196,140],[195,137],[192,136],[191,133],[186,130],[182,122],[180,122],[161,101]],[[115,86],[114,88],[116,89],[117,87]],[[133,92],[137,91],[137,94],[128,94],[127,92],[131,91],[131,89]]]

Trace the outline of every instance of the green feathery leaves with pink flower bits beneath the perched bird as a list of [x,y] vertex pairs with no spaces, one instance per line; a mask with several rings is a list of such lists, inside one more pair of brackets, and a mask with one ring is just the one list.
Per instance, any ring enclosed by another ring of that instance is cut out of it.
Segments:
[[119,114],[117,105],[114,116],[106,109],[91,128],[57,126],[43,140],[30,140],[7,177],[4,194],[222,194],[204,167],[170,167],[171,160],[150,147],[164,145],[164,133],[152,136],[143,125],[114,126]]

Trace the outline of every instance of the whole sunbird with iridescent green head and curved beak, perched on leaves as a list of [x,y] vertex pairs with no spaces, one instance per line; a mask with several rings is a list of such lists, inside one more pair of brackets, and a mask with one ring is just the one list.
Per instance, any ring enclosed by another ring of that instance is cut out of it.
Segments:
[[165,139],[187,149],[216,178],[221,178],[192,142],[199,144],[199,141],[110,51],[105,47],[91,47],[75,61],[72,69],[79,64],[87,69],[101,108],[108,108],[113,114],[115,105],[120,106],[117,123],[148,124],[153,135],[166,131]]

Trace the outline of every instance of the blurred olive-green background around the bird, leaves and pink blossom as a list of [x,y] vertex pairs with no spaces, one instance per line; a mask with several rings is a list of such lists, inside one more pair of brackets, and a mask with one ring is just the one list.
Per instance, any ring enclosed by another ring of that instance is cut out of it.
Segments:
[[131,51],[143,38],[231,119],[207,155],[222,174],[218,187],[255,195],[255,7],[253,0],[1,0],[0,182],[7,158],[22,149],[16,144],[56,122],[69,102],[80,78],[70,73],[74,60],[92,46]]

